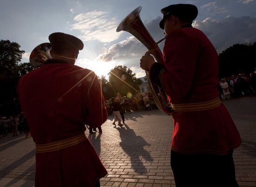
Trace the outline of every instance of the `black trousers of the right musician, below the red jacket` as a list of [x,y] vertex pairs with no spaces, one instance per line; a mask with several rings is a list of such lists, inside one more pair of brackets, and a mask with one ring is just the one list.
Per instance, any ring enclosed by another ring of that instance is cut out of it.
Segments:
[[171,151],[171,167],[176,187],[239,187],[233,149],[229,150],[228,155]]

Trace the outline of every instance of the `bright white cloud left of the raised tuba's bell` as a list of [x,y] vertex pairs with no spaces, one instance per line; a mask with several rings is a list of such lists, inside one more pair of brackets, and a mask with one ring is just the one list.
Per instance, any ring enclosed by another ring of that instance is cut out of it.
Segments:
[[74,17],[73,30],[79,30],[84,41],[99,40],[111,42],[118,39],[120,33],[116,32],[118,26],[115,18],[108,19],[108,13],[92,11],[81,13]]

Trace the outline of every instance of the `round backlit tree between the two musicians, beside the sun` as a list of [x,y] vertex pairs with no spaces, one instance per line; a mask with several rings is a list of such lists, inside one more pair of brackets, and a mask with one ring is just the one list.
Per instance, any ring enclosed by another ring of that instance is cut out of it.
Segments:
[[115,94],[120,93],[122,96],[128,96],[129,93],[134,95],[142,83],[141,79],[135,77],[135,73],[122,65],[115,66],[108,75],[109,83],[115,90]]

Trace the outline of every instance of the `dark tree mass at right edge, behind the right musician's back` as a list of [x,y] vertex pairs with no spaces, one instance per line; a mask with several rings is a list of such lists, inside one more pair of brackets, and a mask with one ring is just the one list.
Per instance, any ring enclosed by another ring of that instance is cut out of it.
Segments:
[[256,42],[253,45],[236,44],[219,54],[219,77],[249,74],[256,68]]

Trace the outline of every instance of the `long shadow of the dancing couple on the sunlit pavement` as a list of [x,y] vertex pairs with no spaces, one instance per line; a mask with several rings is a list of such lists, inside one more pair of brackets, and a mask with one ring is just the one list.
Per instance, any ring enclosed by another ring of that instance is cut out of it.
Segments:
[[147,173],[148,170],[141,161],[142,157],[146,161],[153,161],[153,158],[148,151],[144,149],[144,146],[148,146],[140,135],[136,135],[133,129],[130,129],[128,125],[114,127],[120,133],[121,142],[119,143],[121,148],[131,159],[132,168],[138,173]]

